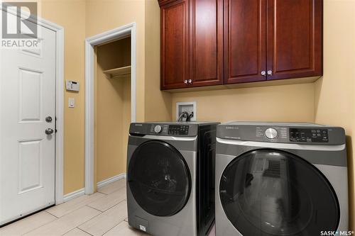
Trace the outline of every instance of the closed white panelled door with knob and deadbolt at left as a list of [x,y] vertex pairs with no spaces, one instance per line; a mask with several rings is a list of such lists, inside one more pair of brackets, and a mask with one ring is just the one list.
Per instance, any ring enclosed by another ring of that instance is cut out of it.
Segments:
[[38,32],[38,49],[0,51],[0,225],[55,203],[55,32]]

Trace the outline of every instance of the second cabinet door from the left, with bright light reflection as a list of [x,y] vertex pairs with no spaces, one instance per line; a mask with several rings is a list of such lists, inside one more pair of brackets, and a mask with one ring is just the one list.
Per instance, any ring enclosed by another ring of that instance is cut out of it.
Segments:
[[223,84],[223,0],[190,0],[189,86]]

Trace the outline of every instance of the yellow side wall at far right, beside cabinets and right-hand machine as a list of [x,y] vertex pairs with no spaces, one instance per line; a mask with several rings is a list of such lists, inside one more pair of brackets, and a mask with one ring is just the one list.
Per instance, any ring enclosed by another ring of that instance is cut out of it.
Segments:
[[355,1],[324,1],[324,73],[315,83],[315,122],[345,128],[351,229],[355,230]]

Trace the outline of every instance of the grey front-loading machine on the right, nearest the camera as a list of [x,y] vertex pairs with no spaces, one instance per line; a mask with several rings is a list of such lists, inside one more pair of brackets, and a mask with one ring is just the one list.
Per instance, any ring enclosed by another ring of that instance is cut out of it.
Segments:
[[217,236],[315,236],[346,230],[343,128],[312,123],[218,125]]

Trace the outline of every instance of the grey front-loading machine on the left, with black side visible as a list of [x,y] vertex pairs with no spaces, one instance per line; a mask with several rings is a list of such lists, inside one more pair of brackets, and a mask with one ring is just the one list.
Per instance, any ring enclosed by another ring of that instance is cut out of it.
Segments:
[[131,227],[157,236],[207,235],[214,223],[217,123],[131,123]]

